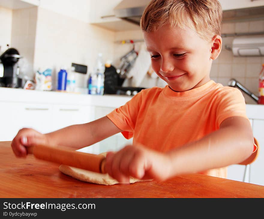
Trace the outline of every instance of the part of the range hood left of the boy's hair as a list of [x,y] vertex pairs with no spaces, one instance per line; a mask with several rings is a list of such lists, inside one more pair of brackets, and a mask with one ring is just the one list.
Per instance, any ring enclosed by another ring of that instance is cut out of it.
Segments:
[[150,0],[123,0],[115,8],[116,17],[140,25],[140,18]]

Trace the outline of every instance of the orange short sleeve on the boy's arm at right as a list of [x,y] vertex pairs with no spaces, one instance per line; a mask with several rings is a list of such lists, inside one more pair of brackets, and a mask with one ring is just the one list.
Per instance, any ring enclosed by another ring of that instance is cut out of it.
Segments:
[[219,128],[225,119],[233,116],[248,119],[245,99],[241,91],[237,88],[228,87],[217,96],[216,127]]

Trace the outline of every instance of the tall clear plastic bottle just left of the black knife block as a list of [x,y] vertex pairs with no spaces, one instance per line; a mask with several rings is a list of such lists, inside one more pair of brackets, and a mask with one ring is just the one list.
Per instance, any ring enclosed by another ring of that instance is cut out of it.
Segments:
[[91,75],[91,94],[104,95],[104,71],[105,65],[103,64],[102,53],[99,53],[96,59],[94,72]]

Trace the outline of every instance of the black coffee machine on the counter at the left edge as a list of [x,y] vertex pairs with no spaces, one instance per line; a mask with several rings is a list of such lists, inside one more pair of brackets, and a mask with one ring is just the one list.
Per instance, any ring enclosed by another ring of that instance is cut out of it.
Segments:
[[18,77],[18,60],[21,58],[15,48],[8,48],[0,55],[0,87],[19,88],[22,79]]

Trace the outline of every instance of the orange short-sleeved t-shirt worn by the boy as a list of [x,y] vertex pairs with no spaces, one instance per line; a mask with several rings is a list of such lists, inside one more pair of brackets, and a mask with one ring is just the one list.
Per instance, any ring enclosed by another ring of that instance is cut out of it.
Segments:
[[[125,138],[159,152],[199,140],[232,116],[247,118],[242,93],[213,80],[183,92],[168,85],[144,89],[107,114]],[[217,176],[226,176],[223,171]]]

